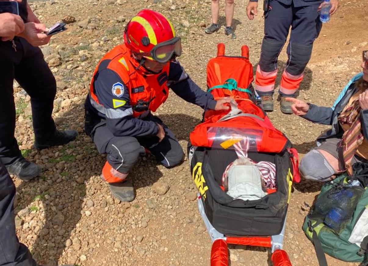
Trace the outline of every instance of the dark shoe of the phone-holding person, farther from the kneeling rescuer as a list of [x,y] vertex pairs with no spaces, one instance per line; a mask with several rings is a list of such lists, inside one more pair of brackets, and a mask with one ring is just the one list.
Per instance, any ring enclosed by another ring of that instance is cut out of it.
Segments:
[[29,162],[25,158],[19,158],[11,165],[7,165],[6,169],[12,175],[17,176],[23,181],[29,181],[41,172],[41,168],[36,163]]

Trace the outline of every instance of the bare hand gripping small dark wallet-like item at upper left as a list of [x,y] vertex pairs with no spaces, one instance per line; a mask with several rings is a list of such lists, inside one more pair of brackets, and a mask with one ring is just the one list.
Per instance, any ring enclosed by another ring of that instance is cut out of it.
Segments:
[[51,37],[45,34],[49,31],[45,25],[34,22],[28,22],[24,25],[24,32],[19,36],[26,39],[33,46],[45,45],[50,41]]

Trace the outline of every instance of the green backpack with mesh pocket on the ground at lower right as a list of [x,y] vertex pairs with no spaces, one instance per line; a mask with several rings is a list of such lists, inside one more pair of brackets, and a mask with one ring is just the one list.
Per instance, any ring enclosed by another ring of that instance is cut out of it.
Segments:
[[327,266],[325,253],[368,265],[368,165],[354,166],[364,175],[354,172],[358,175],[341,175],[324,184],[305,218],[303,231],[314,244],[320,266]]

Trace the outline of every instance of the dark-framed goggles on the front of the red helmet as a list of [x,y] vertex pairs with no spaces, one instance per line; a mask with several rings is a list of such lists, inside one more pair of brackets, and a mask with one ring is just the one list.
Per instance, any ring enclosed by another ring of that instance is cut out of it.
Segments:
[[159,43],[149,52],[153,60],[166,63],[181,55],[181,38],[175,37],[163,43]]

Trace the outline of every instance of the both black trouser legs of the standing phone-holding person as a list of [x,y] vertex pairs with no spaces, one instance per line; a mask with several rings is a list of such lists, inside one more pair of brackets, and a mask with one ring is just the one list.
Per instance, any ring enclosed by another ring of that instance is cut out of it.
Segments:
[[35,137],[47,137],[56,129],[52,119],[56,81],[40,48],[22,38],[0,41],[0,160],[9,165],[21,157],[15,130],[14,79],[31,97]]

